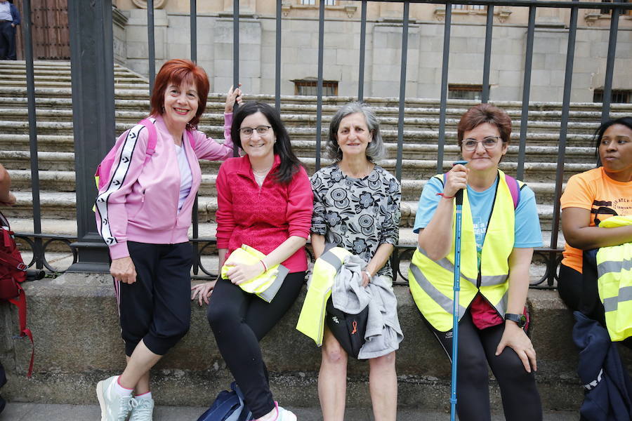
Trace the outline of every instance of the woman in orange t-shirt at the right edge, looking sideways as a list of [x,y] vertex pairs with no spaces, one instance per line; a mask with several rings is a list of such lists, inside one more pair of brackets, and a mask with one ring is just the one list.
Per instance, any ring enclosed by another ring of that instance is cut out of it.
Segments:
[[[600,166],[573,175],[560,199],[567,243],[558,291],[572,310],[582,304],[583,250],[632,241],[632,226],[598,227],[613,215],[632,215],[632,117],[606,121],[595,132],[595,140]],[[595,294],[596,290],[595,286]],[[603,308],[589,316],[603,320]]]

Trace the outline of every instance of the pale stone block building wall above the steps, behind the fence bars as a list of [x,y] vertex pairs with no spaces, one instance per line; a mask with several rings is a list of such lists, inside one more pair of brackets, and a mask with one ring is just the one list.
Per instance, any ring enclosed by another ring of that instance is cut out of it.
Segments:
[[[126,62],[148,73],[147,15],[142,9],[124,11]],[[532,65],[532,101],[561,101],[565,78],[568,30],[562,22],[541,18],[536,27]],[[190,58],[190,18],[186,13],[155,11],[157,68],[169,58]],[[626,22],[627,23],[627,22]],[[276,22],[268,15],[246,14],[240,20],[239,74],[247,93],[275,90]],[[318,21],[284,18],[282,22],[282,95],[294,94],[294,79],[317,76]],[[591,102],[593,90],[603,88],[609,32],[581,27],[574,53],[571,100]],[[494,23],[489,83],[492,100],[521,100],[527,28]],[[232,83],[232,14],[201,13],[197,18],[197,58],[211,79],[211,90],[223,92]],[[402,22],[380,18],[367,22],[364,95],[394,97],[399,93]],[[339,95],[355,95],[358,83],[360,22],[325,22],[325,80],[338,81]],[[406,96],[439,98],[443,23],[412,20],[409,26]],[[482,83],[485,25],[456,22],[450,39],[448,82]],[[613,89],[632,89],[632,28],[621,25]]]

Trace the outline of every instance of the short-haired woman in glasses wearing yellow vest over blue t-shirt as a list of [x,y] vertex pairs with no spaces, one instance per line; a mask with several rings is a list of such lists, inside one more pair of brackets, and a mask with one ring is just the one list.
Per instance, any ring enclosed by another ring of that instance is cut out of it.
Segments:
[[529,265],[542,238],[532,190],[498,168],[510,135],[511,119],[502,109],[468,109],[458,127],[468,163],[431,178],[416,213],[419,249],[409,285],[424,321],[451,357],[454,196],[463,189],[456,381],[461,421],[490,419],[487,364],[498,380],[506,419],[542,419],[536,352],[525,333]]

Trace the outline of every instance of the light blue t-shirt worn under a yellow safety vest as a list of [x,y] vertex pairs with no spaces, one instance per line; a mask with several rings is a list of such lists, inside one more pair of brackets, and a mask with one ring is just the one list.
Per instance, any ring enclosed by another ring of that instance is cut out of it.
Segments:
[[[476,239],[476,248],[480,258],[480,250],[482,250],[483,241],[485,241],[485,233],[487,233],[487,222],[489,215],[492,213],[492,204],[494,203],[494,195],[496,194],[496,182],[484,192],[476,192],[468,186],[468,200],[470,201],[470,209],[472,211],[472,222],[474,225],[474,233]],[[443,183],[441,180],[433,177],[423,187],[421,197],[419,198],[419,206],[417,206],[417,215],[415,216],[415,225],[413,231],[419,233],[419,229],[426,228],[433,218],[437,204],[442,200],[437,193],[443,192]],[[540,230],[540,220],[538,217],[538,209],[536,208],[535,194],[528,186],[522,187],[520,190],[520,203],[515,210],[514,225],[514,248],[532,248],[542,246],[542,232]]]

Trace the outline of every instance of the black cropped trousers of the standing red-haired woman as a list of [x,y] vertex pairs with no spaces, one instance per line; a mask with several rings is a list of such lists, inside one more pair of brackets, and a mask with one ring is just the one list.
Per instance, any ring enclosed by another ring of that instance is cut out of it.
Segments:
[[136,282],[119,284],[119,313],[125,354],[140,340],[164,355],[189,330],[191,322],[190,243],[127,242]]

